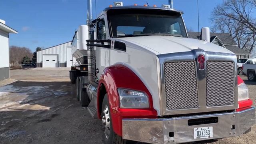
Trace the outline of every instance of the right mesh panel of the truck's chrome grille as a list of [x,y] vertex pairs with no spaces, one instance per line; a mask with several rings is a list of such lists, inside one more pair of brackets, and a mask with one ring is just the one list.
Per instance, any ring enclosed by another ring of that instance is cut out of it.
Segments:
[[234,63],[206,63],[206,106],[234,105]]

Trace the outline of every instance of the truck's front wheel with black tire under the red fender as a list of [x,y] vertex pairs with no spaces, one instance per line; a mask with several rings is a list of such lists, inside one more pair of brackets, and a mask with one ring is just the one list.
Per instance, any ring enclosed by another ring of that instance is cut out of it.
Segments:
[[122,136],[118,136],[113,130],[108,94],[105,94],[102,102],[101,118],[103,144],[126,144],[126,140],[124,140]]

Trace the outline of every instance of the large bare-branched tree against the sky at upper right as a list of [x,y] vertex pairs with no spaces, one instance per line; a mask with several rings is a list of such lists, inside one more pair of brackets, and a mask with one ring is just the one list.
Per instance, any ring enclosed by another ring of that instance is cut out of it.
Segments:
[[252,52],[256,46],[256,0],[225,0],[212,11],[213,32],[228,32],[238,46]]

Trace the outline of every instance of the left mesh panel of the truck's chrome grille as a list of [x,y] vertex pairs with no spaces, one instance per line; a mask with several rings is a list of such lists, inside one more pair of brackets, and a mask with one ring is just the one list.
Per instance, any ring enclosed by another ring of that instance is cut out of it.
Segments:
[[166,109],[198,107],[195,62],[164,63]]

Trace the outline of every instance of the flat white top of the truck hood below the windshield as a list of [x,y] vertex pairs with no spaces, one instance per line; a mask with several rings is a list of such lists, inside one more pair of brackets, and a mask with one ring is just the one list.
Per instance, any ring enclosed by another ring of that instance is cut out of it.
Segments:
[[[123,42],[130,42],[132,44],[142,46],[156,54],[187,52],[198,48],[208,52],[234,54],[226,48],[216,44],[192,38],[180,38],[175,36],[136,36],[117,39]],[[127,45],[129,45],[128,43]]]

